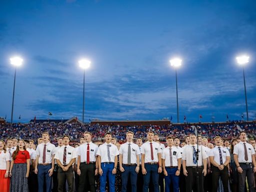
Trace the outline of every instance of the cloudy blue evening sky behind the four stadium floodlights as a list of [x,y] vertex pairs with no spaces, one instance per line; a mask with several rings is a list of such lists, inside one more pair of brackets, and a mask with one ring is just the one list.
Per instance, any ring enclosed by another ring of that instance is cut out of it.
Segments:
[[10,119],[17,68],[14,121],[36,116],[85,121],[162,119],[176,121],[175,71],[168,60],[182,58],[177,71],[179,118],[183,121],[240,119],[245,112],[244,67],[249,119],[256,114],[255,0],[1,0],[0,116]]

